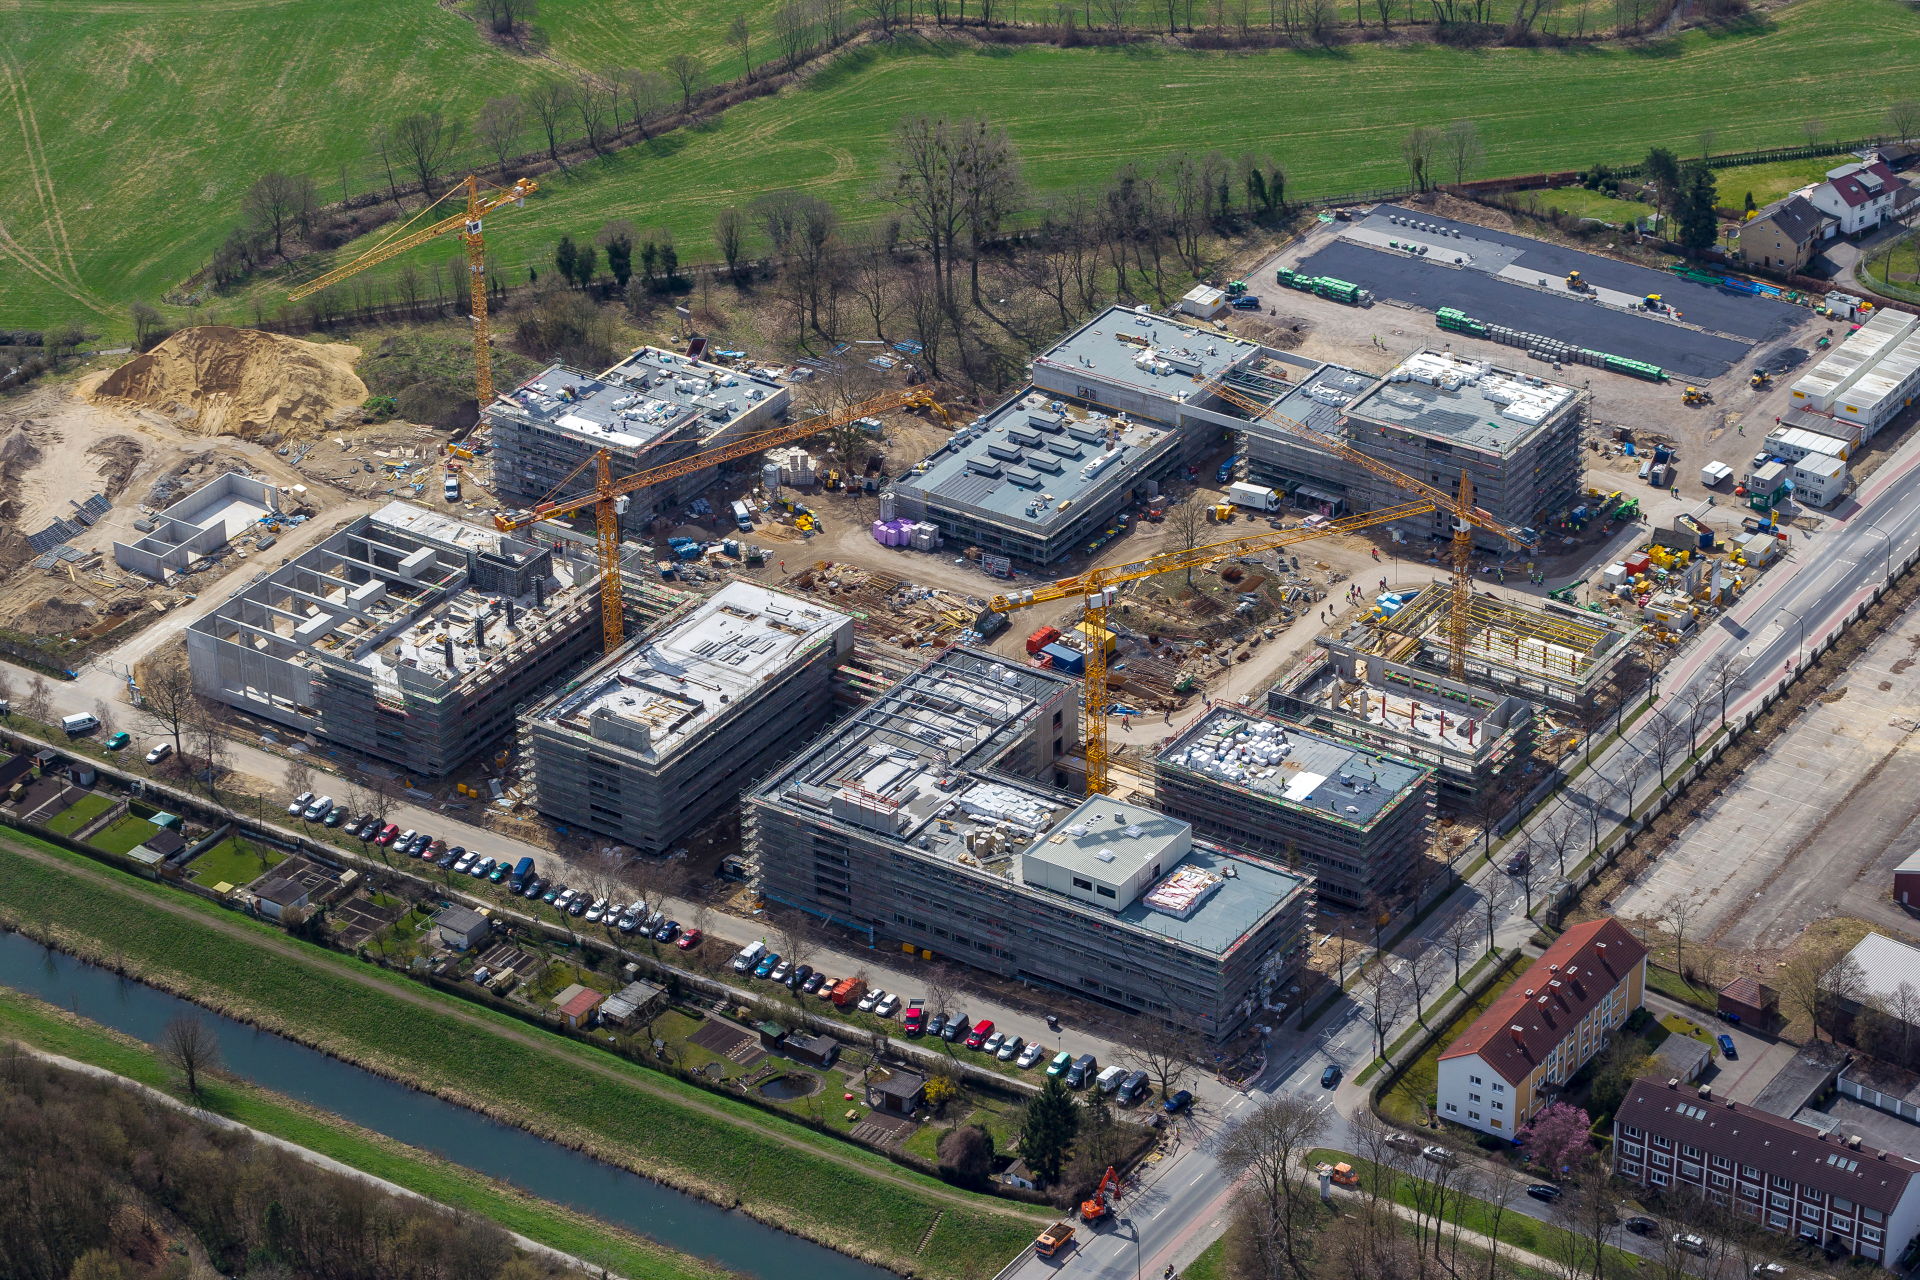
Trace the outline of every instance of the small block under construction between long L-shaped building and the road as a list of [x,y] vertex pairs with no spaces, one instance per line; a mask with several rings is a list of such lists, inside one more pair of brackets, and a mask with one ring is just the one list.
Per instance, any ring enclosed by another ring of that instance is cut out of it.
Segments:
[[1321,902],[1388,902],[1427,848],[1432,770],[1238,706],[1154,756],[1160,808],[1313,877]]

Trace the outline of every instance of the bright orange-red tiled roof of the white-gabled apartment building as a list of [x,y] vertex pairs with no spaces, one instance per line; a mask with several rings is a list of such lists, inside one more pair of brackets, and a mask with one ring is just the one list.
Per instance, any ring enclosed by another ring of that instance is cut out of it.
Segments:
[[1640,938],[1611,915],[1574,925],[1440,1057],[1478,1054],[1480,1061],[1519,1084],[1645,956]]

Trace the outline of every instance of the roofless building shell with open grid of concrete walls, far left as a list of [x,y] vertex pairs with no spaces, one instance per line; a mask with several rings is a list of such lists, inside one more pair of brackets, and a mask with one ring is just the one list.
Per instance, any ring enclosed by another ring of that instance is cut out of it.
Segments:
[[599,639],[589,555],[388,503],[186,629],[194,689],[438,777]]

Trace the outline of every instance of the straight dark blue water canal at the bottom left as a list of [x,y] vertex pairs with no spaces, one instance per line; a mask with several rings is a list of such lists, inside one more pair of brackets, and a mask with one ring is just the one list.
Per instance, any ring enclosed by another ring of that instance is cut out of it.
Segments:
[[893,1276],[6,931],[0,931],[0,986],[148,1044],[171,1019],[192,1013],[219,1036],[221,1065],[236,1077],[732,1270],[764,1280]]

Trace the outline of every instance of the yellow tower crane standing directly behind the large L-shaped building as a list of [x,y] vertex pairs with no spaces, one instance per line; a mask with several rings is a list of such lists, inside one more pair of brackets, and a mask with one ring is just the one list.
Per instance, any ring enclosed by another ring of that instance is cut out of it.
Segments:
[[1227,560],[1236,555],[1254,555],[1260,551],[1273,551],[1275,547],[1288,547],[1292,543],[1313,541],[1315,537],[1329,537],[1332,533],[1352,533],[1375,524],[1386,524],[1390,520],[1405,520],[1407,516],[1427,514],[1434,510],[1436,503],[1432,499],[1421,499],[1417,503],[1404,503],[1400,507],[1388,507],[1384,510],[1369,510],[1359,516],[1342,516],[1340,520],[1329,520],[1327,524],[1311,530],[1279,530],[1267,533],[1248,533],[1246,537],[1229,537],[1217,543],[1206,543],[1202,547],[1192,547],[1187,551],[1162,551],[1160,555],[1146,557],[1144,560],[1133,560],[1131,564],[1108,564],[1102,568],[1091,568],[1085,574],[1075,574],[1073,578],[1058,578],[1037,587],[1027,587],[1023,591],[1010,591],[1006,595],[996,595],[987,601],[987,608],[996,614],[1010,614],[1018,608],[1029,608],[1033,604],[1046,604],[1048,601],[1079,599],[1087,610],[1085,622],[1091,631],[1087,645],[1087,695],[1085,708],[1081,710],[1081,735],[1087,750],[1087,794],[1106,794],[1108,791],[1108,760],[1110,752],[1106,747],[1106,710],[1112,704],[1106,687],[1106,610],[1114,603],[1114,589],[1123,581],[1137,581],[1140,578],[1154,578],[1156,574],[1169,574],[1183,568],[1200,568],[1202,564],[1213,564],[1217,560]]

